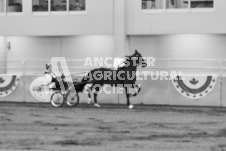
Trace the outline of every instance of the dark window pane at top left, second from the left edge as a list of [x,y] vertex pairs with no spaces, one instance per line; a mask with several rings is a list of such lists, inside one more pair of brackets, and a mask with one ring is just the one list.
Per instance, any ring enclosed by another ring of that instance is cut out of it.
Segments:
[[22,10],[22,0],[7,0],[7,13],[22,12]]

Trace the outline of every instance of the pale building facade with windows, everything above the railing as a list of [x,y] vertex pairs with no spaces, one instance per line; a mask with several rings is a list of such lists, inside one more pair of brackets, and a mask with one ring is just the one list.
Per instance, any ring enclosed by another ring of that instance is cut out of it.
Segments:
[[[1,0],[0,4],[1,43],[11,46],[7,52],[1,48],[1,56],[7,53],[8,60],[24,59],[15,58],[16,52],[40,59],[37,53],[47,49],[46,58],[99,55],[101,49],[104,56],[123,56],[133,49],[157,58],[226,56],[224,0]],[[86,43],[90,48],[84,48]],[[197,52],[204,56],[194,56]]]

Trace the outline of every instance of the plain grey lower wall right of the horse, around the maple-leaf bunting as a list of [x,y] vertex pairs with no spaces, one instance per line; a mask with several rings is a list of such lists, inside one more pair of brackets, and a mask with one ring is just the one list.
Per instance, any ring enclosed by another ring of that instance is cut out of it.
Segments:
[[[160,78],[159,78],[160,79]],[[136,97],[131,98],[132,104],[152,104],[152,105],[182,105],[182,106],[225,106],[226,98],[224,93],[221,100],[220,79],[210,94],[201,99],[188,99],[174,88],[171,80],[145,80],[137,81],[141,84],[141,91]],[[225,82],[225,78],[224,78]],[[225,90],[226,83],[223,83]],[[224,92],[224,91],[223,91]],[[119,95],[119,102],[126,103],[125,94]]]

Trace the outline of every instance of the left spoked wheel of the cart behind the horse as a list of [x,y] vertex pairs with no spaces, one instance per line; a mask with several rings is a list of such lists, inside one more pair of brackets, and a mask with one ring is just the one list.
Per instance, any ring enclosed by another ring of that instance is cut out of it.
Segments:
[[64,104],[64,96],[60,92],[54,92],[50,98],[50,102],[54,107],[61,107]]

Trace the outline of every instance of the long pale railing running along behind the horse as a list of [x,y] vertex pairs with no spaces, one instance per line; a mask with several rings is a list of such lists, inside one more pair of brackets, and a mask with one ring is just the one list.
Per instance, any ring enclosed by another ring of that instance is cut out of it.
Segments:
[[[22,74],[34,75],[43,74],[45,64],[50,60],[25,60],[25,61],[0,61],[0,74]],[[113,64],[112,62],[108,62]],[[84,59],[67,60],[68,68],[71,74],[88,71],[98,66],[84,66]],[[105,66],[113,68],[113,66]],[[226,59],[225,60],[167,60],[157,59],[154,66],[138,68],[140,71],[182,71],[190,74],[216,74],[226,76]]]

